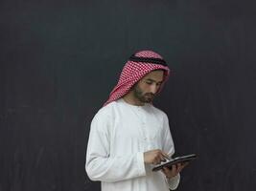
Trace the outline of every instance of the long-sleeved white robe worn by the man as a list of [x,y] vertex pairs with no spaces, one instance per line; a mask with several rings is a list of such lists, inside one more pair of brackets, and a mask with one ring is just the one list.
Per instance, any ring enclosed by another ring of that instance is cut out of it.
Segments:
[[160,149],[175,153],[168,117],[151,104],[134,106],[123,98],[103,107],[91,123],[85,169],[91,180],[102,182],[102,191],[174,190],[179,174],[166,179],[152,172],[144,152]]

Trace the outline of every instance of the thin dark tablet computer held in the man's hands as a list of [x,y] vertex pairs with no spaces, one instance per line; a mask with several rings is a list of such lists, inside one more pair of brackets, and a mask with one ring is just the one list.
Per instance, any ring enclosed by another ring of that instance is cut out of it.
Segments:
[[152,168],[152,171],[161,170],[163,167],[172,168],[172,165],[174,165],[174,164],[182,163],[182,162],[186,162],[186,161],[191,161],[193,159],[197,159],[197,155],[196,154],[176,157],[175,159],[167,160],[165,162],[162,162],[160,164],[155,165]]

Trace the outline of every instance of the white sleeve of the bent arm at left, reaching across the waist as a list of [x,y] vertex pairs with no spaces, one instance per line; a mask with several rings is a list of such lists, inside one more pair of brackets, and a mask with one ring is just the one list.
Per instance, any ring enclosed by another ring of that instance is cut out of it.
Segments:
[[111,120],[113,117],[105,113],[98,113],[92,120],[85,162],[89,179],[115,182],[146,176],[142,152],[110,156]]

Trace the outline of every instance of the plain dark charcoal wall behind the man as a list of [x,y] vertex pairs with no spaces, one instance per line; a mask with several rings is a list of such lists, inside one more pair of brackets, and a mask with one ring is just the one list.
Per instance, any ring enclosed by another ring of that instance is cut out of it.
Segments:
[[238,0],[0,2],[0,191],[100,190],[89,125],[131,53],[174,69],[155,105],[176,155],[197,153],[178,191],[256,187],[255,6]]

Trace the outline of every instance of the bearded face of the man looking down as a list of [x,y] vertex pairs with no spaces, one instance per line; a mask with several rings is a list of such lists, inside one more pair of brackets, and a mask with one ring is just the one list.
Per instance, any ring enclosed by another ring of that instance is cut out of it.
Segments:
[[133,88],[133,96],[142,103],[150,103],[159,90],[164,78],[161,70],[145,75]]

